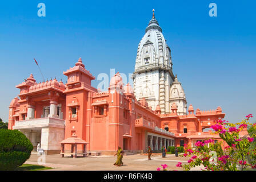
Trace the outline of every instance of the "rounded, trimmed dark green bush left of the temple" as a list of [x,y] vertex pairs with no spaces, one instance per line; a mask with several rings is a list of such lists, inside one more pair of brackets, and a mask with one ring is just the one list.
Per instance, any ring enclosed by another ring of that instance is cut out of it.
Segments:
[[0,171],[12,171],[30,158],[33,145],[18,130],[0,129]]

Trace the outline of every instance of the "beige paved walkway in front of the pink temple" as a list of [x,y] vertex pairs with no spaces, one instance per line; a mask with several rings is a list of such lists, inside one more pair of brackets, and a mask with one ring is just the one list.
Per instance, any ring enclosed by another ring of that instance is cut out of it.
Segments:
[[[178,162],[187,163],[189,158],[175,157],[167,154],[162,158],[161,154],[151,156],[152,160],[147,160],[147,155],[127,155],[123,156],[123,166],[117,167],[113,164],[117,160],[116,156],[88,156],[86,158],[61,158],[60,155],[46,155],[43,166],[52,167],[49,171],[155,171],[161,164],[167,164],[167,170],[183,170],[176,167]],[[42,162],[42,156],[31,154],[26,164],[38,164]],[[42,165],[42,164],[40,164]]]

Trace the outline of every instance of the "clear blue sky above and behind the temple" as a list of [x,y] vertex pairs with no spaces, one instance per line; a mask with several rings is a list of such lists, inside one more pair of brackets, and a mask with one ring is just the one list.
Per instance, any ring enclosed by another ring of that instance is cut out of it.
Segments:
[[[217,4],[217,17],[209,4]],[[46,17],[37,15],[45,3]],[[95,77],[134,71],[138,43],[155,9],[188,105],[222,107],[230,122],[256,117],[254,1],[5,1],[0,3],[0,117],[15,88],[34,74],[66,81],[79,57]],[[97,86],[100,81],[93,81]],[[252,119],[256,121],[256,119]]]

